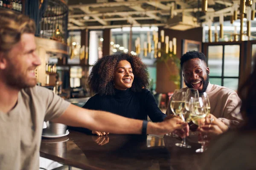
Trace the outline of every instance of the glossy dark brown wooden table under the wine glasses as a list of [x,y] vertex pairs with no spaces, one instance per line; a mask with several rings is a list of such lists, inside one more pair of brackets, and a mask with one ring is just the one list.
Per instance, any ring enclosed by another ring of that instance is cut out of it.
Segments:
[[68,136],[42,138],[40,156],[63,164],[92,170],[198,170],[200,144],[180,148],[180,139],[164,136],[91,136],[70,130]]

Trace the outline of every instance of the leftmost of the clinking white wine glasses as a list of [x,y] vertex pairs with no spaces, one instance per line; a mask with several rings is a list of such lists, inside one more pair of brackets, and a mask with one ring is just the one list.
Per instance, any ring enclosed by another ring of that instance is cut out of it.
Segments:
[[[185,98],[186,98],[186,93],[185,91],[182,90],[178,90],[176,89],[172,95],[171,98],[171,104],[170,104],[170,108],[172,110],[173,115],[178,114],[181,110],[183,110],[184,105],[185,105]],[[168,116],[168,115],[167,115]],[[172,136],[172,137],[178,137],[176,134],[174,133],[167,133],[167,136]]]

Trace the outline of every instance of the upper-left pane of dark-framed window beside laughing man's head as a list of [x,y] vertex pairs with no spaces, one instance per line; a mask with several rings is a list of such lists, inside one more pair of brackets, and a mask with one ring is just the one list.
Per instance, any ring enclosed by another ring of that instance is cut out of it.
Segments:
[[222,45],[211,45],[208,47],[208,66],[210,68],[210,76],[221,76],[222,52]]

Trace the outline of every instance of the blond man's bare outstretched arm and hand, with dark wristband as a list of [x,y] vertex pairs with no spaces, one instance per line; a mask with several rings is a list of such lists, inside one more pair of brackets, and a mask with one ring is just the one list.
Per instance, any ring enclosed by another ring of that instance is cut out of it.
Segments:
[[[93,111],[70,105],[67,110],[52,122],[74,127],[85,127],[91,130],[116,134],[141,134],[142,120],[129,119],[105,111]],[[180,119],[166,119],[163,122],[148,122],[147,134],[171,133],[177,129],[186,131],[187,124]]]

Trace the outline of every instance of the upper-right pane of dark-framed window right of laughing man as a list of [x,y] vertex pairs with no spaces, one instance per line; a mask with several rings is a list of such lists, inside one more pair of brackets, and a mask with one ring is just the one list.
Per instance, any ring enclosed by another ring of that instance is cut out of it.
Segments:
[[224,46],[224,76],[239,76],[240,45]]

